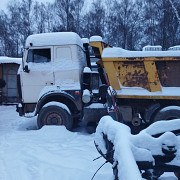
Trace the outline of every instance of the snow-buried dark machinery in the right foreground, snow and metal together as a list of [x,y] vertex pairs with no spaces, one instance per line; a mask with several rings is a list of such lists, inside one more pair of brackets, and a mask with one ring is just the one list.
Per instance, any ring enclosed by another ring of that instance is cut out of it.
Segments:
[[176,172],[180,178],[179,135],[180,119],[155,122],[132,135],[128,126],[104,116],[96,130],[95,145],[113,165],[116,180],[157,180],[164,172]]

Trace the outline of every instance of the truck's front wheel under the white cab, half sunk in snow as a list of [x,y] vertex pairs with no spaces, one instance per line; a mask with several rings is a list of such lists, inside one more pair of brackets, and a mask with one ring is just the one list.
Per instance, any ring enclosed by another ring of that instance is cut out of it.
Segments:
[[64,108],[57,105],[43,107],[37,118],[38,128],[44,125],[64,125],[70,130],[73,126],[73,118],[71,114]]

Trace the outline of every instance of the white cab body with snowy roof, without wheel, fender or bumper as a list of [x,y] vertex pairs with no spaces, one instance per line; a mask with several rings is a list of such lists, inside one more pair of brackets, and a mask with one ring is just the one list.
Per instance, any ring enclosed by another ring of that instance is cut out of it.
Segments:
[[82,40],[68,32],[31,35],[26,41],[23,66],[20,77],[24,103],[36,103],[44,88],[52,86],[80,90],[86,66]]

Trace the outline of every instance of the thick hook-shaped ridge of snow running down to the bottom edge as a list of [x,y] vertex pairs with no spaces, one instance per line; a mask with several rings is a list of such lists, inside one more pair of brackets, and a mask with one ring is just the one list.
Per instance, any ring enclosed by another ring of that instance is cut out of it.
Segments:
[[141,180],[138,166],[131,151],[130,128],[117,123],[110,116],[101,118],[96,129],[95,142],[102,153],[106,154],[103,133],[114,144],[114,161],[118,162],[118,177],[121,180]]

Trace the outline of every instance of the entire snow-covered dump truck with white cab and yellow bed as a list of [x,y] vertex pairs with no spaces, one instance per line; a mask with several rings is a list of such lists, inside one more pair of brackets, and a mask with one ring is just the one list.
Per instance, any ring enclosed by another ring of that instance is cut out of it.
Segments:
[[[98,72],[91,70],[89,45]],[[70,32],[31,35],[18,74],[17,109],[21,116],[38,115],[39,128],[71,129],[80,117],[94,126],[109,113],[139,129],[180,118],[179,77],[178,51],[127,51]]]

